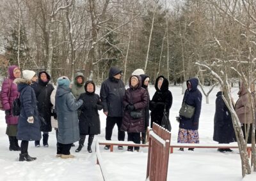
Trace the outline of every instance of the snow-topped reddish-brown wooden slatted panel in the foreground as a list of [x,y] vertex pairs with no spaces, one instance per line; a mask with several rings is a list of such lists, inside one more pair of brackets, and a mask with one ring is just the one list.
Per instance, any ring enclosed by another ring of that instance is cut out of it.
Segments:
[[153,124],[148,140],[147,180],[167,180],[171,133]]

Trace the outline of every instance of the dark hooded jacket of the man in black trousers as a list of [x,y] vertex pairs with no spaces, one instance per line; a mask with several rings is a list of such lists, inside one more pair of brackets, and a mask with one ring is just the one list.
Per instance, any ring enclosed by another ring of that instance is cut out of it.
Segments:
[[120,69],[110,68],[109,78],[100,87],[100,100],[102,101],[103,112],[108,112],[108,117],[122,117],[123,98],[125,85],[122,80],[113,76],[120,73]]

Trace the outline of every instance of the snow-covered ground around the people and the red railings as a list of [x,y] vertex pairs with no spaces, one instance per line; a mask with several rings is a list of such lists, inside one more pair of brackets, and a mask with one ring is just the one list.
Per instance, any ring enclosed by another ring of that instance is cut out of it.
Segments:
[[[205,88],[207,89],[207,87]],[[209,105],[202,104],[200,116],[199,136],[200,143],[216,143],[212,141],[213,118],[215,111],[215,99],[218,88],[209,96]],[[177,142],[179,124],[175,120],[181,106],[183,95],[180,87],[170,87],[173,94],[173,106],[170,110],[172,123],[172,142]],[[234,99],[237,99],[237,88],[232,89]],[[99,92],[99,87],[97,91]],[[150,98],[155,90],[150,87]],[[19,152],[8,150],[8,136],[5,134],[6,124],[4,112],[0,112],[0,180],[103,180],[99,166],[96,164],[95,140],[104,140],[106,116],[100,112],[101,134],[95,136],[93,141],[93,153],[87,152],[86,147],[76,153],[76,147],[71,152],[74,159],[56,158],[56,137],[54,130],[49,136],[49,147],[36,148],[33,141],[29,142],[29,154],[37,157],[33,162],[19,162]],[[125,135],[127,139],[127,134]],[[117,128],[113,130],[112,140],[117,140]],[[87,140],[86,140],[87,143]],[[147,171],[147,148],[141,148],[140,152],[127,152],[117,150],[114,152],[104,150],[100,146],[103,163],[106,166],[109,180],[145,180]],[[232,153],[220,153],[214,148],[197,148],[194,152],[180,152],[177,148],[170,154],[168,166],[168,180],[256,180],[256,173],[241,177],[241,160],[238,150]]]

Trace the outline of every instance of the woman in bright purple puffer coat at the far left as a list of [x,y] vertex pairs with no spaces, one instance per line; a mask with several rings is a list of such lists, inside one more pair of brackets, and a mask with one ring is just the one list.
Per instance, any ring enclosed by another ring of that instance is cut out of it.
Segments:
[[17,84],[13,83],[15,78],[20,78],[20,68],[18,66],[10,66],[8,68],[9,77],[4,80],[1,90],[2,104],[5,112],[5,120],[7,124],[6,134],[9,137],[9,150],[19,151],[20,147],[16,138],[17,125],[19,117],[12,115],[12,103],[14,99],[19,97]]

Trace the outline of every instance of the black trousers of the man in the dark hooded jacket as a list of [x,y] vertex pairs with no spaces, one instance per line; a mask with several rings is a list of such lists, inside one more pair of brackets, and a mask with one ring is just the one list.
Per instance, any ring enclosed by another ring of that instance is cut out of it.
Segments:
[[118,141],[124,141],[125,133],[121,131],[122,117],[107,117],[106,122],[106,140],[111,140],[113,128],[115,124],[118,127]]

